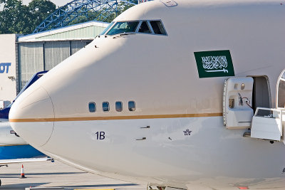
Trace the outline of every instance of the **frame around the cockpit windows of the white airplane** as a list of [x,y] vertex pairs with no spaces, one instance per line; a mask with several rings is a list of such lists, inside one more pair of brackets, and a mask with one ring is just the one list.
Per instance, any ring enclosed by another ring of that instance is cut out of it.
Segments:
[[[110,26],[110,28],[108,28],[108,30],[105,31],[105,33],[100,34],[100,35],[115,36],[115,35],[124,34],[124,33],[116,33],[116,34],[113,34],[113,35],[108,35],[107,33],[109,33],[109,31],[110,31],[110,30],[115,26],[115,24],[118,23],[118,22],[133,22],[133,21],[138,21],[138,22],[139,22],[137,28],[135,29],[135,32],[127,32],[126,34],[128,34],[128,33],[139,33],[139,34],[147,34],[147,35],[168,36],[167,31],[166,31],[166,29],[165,29],[165,26],[164,26],[164,24],[163,24],[163,22],[162,22],[161,19],[113,21],[112,26]],[[151,33],[141,33],[141,32],[138,32],[139,29],[140,29],[140,26],[142,25],[142,22],[143,22],[143,21],[146,21],[146,22],[147,22],[147,25],[148,25],[148,27],[150,28]],[[160,21],[160,23],[161,23],[161,25],[162,25],[162,28],[163,28],[163,30],[165,31],[165,34],[164,34],[164,33],[161,33],[161,34],[155,33],[155,31],[153,31],[152,25],[150,24],[150,21]]]

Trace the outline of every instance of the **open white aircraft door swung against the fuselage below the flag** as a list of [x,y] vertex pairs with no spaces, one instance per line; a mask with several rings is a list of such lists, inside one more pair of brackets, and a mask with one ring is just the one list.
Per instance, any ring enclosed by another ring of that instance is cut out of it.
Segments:
[[227,129],[247,129],[252,126],[252,77],[228,78],[224,82],[223,118]]

